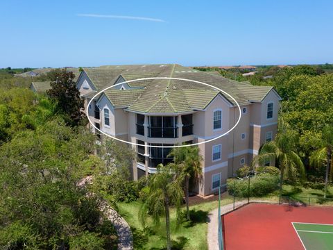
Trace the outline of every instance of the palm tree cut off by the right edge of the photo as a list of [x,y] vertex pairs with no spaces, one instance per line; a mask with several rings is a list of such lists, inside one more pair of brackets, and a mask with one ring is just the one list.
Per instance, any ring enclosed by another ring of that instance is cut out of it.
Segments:
[[326,126],[323,129],[322,148],[314,151],[314,153],[312,153],[310,156],[311,165],[314,165],[315,167],[321,167],[323,164],[326,164],[324,199],[326,199],[326,194],[327,194],[328,176],[330,172],[331,175],[333,174],[332,151],[333,151],[333,126]]

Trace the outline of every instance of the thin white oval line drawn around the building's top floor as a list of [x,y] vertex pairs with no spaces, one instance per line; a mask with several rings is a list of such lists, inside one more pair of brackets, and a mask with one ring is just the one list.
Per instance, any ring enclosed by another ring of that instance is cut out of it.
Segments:
[[[115,138],[113,137],[112,135],[109,135],[108,133],[105,133],[103,131],[101,131],[99,128],[96,128],[96,126],[92,123],[92,121],[89,119],[89,111],[88,111],[88,107],[90,105],[90,103],[92,103],[92,100],[95,99],[95,97],[97,97],[99,94],[101,94],[102,92],[104,92],[105,90],[108,90],[110,88],[114,88],[115,86],[117,85],[121,85],[123,83],[131,83],[131,82],[135,82],[135,81],[144,81],[144,80],[154,80],[154,79],[164,79],[164,80],[180,80],[180,81],[190,81],[192,83],[200,83],[200,84],[203,84],[203,85],[206,85],[206,86],[209,86],[213,89],[216,89],[216,90],[219,90],[221,92],[223,92],[224,94],[228,95],[228,97],[230,97],[236,104],[237,104],[237,108],[239,110],[239,118],[236,122],[236,124],[234,124],[234,126],[232,128],[230,128],[227,132],[223,133],[222,135],[219,135],[217,136],[216,138],[212,138],[210,140],[207,140],[207,141],[204,141],[204,142],[197,142],[197,143],[192,143],[192,144],[182,144],[182,145],[176,145],[176,146],[151,146],[151,145],[144,145],[144,147],[151,147],[151,148],[162,148],[162,149],[173,149],[173,148],[180,148],[180,147],[191,147],[191,146],[196,146],[196,145],[200,145],[200,144],[205,144],[207,142],[212,142],[213,140],[216,140],[216,139],[219,139],[221,137],[223,137],[224,135],[227,135],[228,133],[230,133],[234,128],[236,128],[236,126],[239,124],[240,120],[241,120],[241,106],[239,106],[239,103],[234,99],[234,97],[232,97],[230,94],[228,94],[227,92],[225,92],[224,90],[221,90],[219,88],[216,88],[215,86],[213,85],[210,85],[208,83],[202,83],[200,81],[194,81],[194,80],[190,80],[190,79],[186,79],[186,78],[176,78],[176,77],[148,77],[148,78],[139,78],[139,79],[134,79],[134,80],[130,80],[130,81],[123,81],[121,83],[117,83],[117,84],[114,84],[114,85],[111,85],[109,86],[108,88],[105,88],[103,90],[101,90],[100,92],[98,92],[97,94],[94,95],[94,97],[92,97],[92,99],[88,102],[87,104],[87,109],[86,109],[86,115],[87,115],[87,118],[88,118],[88,121],[90,122],[90,124],[92,124],[92,126],[98,130],[99,132],[103,133],[104,135],[108,136],[109,138],[112,138],[114,140],[117,140],[119,142],[125,142],[127,144],[131,144],[131,145],[134,145],[134,146],[142,146],[142,144],[137,144],[135,142],[128,142],[128,141],[125,141],[125,140],[121,140],[121,139],[118,139],[118,138]],[[126,91],[126,90],[123,90],[123,91]]]

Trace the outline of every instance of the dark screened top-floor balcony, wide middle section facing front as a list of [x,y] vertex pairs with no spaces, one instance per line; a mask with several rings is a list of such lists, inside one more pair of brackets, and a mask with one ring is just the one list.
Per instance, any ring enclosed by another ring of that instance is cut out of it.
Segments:
[[149,117],[148,137],[178,138],[178,117]]

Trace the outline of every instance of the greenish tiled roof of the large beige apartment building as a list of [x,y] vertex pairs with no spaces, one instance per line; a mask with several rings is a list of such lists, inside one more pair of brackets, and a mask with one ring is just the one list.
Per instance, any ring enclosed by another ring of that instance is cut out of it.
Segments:
[[[248,82],[232,81],[219,74],[200,72],[180,65],[121,65],[84,70],[98,91],[113,85],[119,76],[126,81],[151,77],[186,78],[224,90],[240,105],[244,105],[250,101],[262,101],[272,89],[253,86]],[[128,110],[140,113],[184,113],[204,109],[220,92],[200,83],[177,79],[150,79],[131,82],[128,85],[130,90],[110,88],[104,93],[115,107],[127,107]],[[223,96],[235,104],[230,97],[225,94]]]

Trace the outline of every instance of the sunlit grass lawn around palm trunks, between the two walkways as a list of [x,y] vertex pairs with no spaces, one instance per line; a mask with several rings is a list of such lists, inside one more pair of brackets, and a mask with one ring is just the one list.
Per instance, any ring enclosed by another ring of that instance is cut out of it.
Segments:
[[[226,196],[221,205],[232,202],[232,197]],[[119,213],[126,219],[133,230],[135,249],[165,249],[166,229],[164,218],[160,225],[154,226],[150,218],[147,219],[146,229],[139,222],[138,214],[140,201],[131,203],[117,203]],[[207,249],[207,216],[211,210],[218,207],[218,201],[209,201],[190,206],[192,222],[182,222],[176,228],[176,212],[171,208],[171,240],[173,249]],[[183,208],[182,211],[186,211]]]

